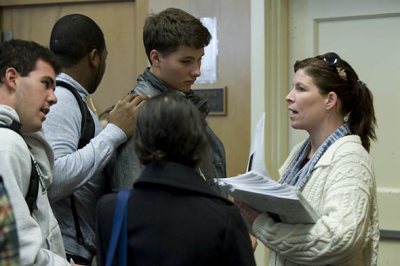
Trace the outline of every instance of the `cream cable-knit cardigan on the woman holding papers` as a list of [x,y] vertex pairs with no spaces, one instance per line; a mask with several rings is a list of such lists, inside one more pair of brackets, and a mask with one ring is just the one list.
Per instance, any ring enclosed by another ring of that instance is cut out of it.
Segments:
[[[280,176],[300,147],[290,153]],[[270,266],[377,264],[375,174],[358,136],[343,137],[328,148],[302,193],[320,214],[315,224],[276,223],[267,214],[253,223],[254,234],[270,249]]]

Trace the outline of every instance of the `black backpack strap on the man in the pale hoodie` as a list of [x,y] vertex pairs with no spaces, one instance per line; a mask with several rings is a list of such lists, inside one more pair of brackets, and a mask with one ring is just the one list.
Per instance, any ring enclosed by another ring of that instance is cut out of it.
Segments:
[[[13,121],[11,125],[0,125],[1,128],[8,128],[13,130],[14,132],[18,133],[21,135],[21,124]],[[21,135],[22,136],[22,135]],[[37,195],[39,191],[39,172],[36,168],[36,164],[33,161],[33,157],[31,155],[31,177],[29,179],[29,187],[28,191],[25,195],[25,201],[26,204],[28,205],[29,211],[32,215],[33,210],[37,210],[37,205],[36,205],[36,200],[37,200]]]

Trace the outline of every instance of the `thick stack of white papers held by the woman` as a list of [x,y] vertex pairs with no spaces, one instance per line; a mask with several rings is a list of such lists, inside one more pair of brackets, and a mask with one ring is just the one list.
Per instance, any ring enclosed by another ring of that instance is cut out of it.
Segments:
[[235,201],[278,216],[281,222],[314,223],[318,214],[299,189],[278,183],[268,176],[264,162],[264,121],[265,114],[259,120],[252,140],[248,172],[230,178],[218,178],[216,182]]

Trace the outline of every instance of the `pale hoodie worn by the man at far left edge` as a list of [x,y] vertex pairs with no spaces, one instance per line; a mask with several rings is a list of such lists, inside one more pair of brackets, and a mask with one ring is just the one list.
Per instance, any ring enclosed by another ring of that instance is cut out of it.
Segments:
[[[19,122],[18,114],[6,105],[0,105],[0,124]],[[22,265],[70,265],[60,228],[51,210],[47,192],[52,182],[53,152],[41,132],[24,134],[0,128],[0,174],[10,195],[17,224]],[[30,151],[28,148],[30,147]],[[30,152],[43,173],[43,186],[39,185],[37,210],[30,214],[25,195],[31,176]]]

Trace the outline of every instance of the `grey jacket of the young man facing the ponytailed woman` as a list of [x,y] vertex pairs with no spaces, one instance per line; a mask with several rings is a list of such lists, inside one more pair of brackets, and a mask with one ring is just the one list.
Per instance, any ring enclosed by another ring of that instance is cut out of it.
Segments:
[[[168,87],[167,84],[151,74],[149,69],[146,69],[142,75],[139,75],[137,81],[138,84],[132,90],[132,92],[136,92],[140,95],[148,95],[150,97],[162,93],[175,92],[181,94],[182,97],[186,97],[189,101],[191,101],[204,115],[204,118],[208,114],[208,104],[205,99],[199,97],[193,91],[190,91],[185,95]],[[213,186],[214,178],[226,177],[225,149],[221,140],[208,126],[206,128],[206,134],[210,143],[210,148],[205,158],[202,160],[199,168],[204,174],[207,182]],[[112,176],[111,182],[113,190],[123,187],[132,187],[132,184],[134,181],[136,181],[143,170],[143,167],[135,153],[133,138],[129,139],[126,143],[122,144],[118,148],[117,154],[112,159],[109,170],[111,172],[109,175]],[[217,189],[216,187],[213,188]]]

